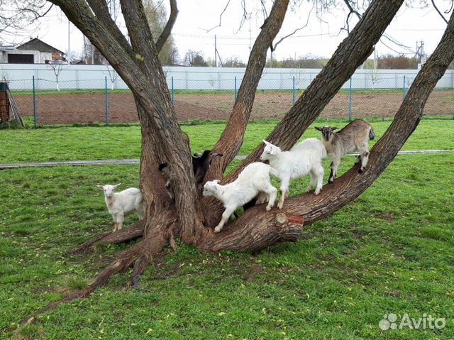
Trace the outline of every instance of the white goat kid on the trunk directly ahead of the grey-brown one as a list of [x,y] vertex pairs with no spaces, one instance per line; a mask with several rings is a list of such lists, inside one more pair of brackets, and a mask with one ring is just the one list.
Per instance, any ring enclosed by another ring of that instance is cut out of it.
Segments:
[[306,191],[316,186],[315,194],[319,194],[323,187],[323,166],[321,160],[326,158],[326,149],[316,138],[308,138],[297,144],[289,151],[282,151],[279,146],[272,145],[265,140],[265,149],[260,160],[269,160],[272,174],[281,182],[281,198],[277,207],[282,209],[285,197],[289,192],[290,180],[311,174],[311,182]]

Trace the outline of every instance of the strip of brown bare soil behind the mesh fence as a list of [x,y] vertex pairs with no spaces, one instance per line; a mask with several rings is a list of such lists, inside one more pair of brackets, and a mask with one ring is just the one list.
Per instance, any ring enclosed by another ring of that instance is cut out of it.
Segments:
[[[299,95],[299,94],[298,94]],[[22,116],[33,116],[33,96],[14,96]],[[453,114],[453,91],[434,91],[424,114]],[[228,119],[233,107],[232,94],[175,94],[179,121],[189,119]],[[353,94],[353,117],[394,116],[402,103],[400,93]],[[339,93],[331,100],[321,118],[347,118],[349,94]],[[109,94],[109,122],[138,121],[133,95]],[[257,92],[252,118],[282,118],[292,107],[292,92]],[[106,122],[106,97],[102,93],[41,94],[36,100],[38,124],[74,124]]]

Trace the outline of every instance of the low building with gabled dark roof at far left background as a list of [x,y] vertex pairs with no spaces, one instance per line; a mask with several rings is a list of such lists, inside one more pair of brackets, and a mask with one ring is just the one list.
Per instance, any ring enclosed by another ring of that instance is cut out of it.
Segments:
[[0,47],[0,63],[8,64],[48,64],[65,62],[65,53],[38,38],[13,47]]

